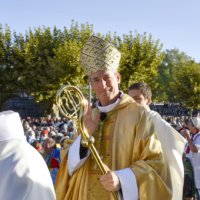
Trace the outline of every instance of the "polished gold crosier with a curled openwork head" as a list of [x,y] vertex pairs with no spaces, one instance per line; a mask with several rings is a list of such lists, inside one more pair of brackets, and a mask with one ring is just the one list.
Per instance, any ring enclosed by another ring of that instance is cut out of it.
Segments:
[[[87,133],[83,124],[85,104],[82,92],[75,86],[65,85],[57,92],[56,104],[65,117],[74,121],[75,126],[77,126],[76,131],[80,130],[82,135],[82,145],[89,148],[102,174],[106,174],[107,171],[104,168],[103,162],[93,145],[94,137]],[[69,143],[71,142],[69,141]],[[118,200],[117,192],[112,191],[112,195]]]

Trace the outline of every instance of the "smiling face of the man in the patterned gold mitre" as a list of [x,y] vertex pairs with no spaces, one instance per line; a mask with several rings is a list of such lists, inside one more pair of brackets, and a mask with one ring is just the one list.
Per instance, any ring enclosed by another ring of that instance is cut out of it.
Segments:
[[111,70],[98,71],[90,76],[92,89],[103,106],[114,103],[119,94],[120,74]]

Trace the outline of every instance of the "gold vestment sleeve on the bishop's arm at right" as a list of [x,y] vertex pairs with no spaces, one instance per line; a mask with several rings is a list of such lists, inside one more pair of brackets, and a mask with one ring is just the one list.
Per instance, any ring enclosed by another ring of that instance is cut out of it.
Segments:
[[[141,131],[142,130],[142,131]],[[136,132],[138,138],[134,143],[135,161],[133,170],[142,200],[172,199],[172,184],[166,157],[161,143],[156,136],[157,128],[146,113],[141,117]]]

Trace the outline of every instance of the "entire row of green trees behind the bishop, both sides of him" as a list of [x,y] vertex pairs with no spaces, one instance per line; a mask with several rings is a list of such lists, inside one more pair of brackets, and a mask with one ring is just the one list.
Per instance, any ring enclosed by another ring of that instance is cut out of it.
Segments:
[[[36,101],[51,108],[61,86],[86,88],[89,81],[79,58],[83,45],[93,34],[92,25],[79,26],[73,20],[69,29],[43,26],[29,29],[25,35],[12,35],[8,26],[3,30],[0,25],[0,106],[13,94],[26,90]],[[134,82],[146,82],[156,101],[199,105],[200,70],[190,57],[177,49],[162,52],[159,40],[154,41],[146,33],[133,36],[130,32],[122,38],[110,32],[96,35],[113,43],[122,53],[119,72],[124,92]]]

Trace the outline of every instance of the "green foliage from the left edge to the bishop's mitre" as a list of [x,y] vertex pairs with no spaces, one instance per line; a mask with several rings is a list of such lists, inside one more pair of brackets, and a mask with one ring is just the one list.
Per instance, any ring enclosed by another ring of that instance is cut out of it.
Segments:
[[0,26],[0,93],[1,105],[11,98],[3,94],[26,90],[37,101],[52,106],[60,86],[86,85],[79,56],[82,46],[93,34],[92,26],[72,21],[68,30],[43,26],[13,37],[9,27]]

